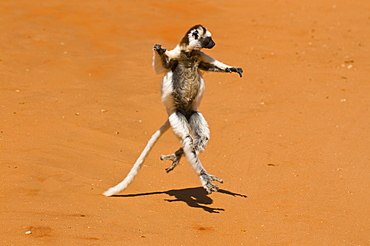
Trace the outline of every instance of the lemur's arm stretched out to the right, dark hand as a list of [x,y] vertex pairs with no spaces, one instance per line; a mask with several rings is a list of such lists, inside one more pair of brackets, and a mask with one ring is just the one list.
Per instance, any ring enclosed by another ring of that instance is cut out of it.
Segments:
[[239,67],[232,67],[222,62],[219,62],[212,57],[201,52],[201,62],[199,63],[199,69],[211,72],[226,72],[226,73],[238,73],[240,77],[243,76],[243,69]]

